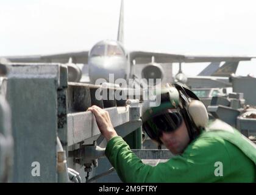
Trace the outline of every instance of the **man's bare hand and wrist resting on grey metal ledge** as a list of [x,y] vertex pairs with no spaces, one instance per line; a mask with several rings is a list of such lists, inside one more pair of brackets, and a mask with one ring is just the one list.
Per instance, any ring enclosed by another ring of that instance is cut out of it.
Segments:
[[91,106],[87,109],[87,111],[91,111],[94,114],[99,130],[101,131],[102,135],[107,139],[107,141],[111,140],[111,138],[113,137],[118,136],[107,111],[96,105]]

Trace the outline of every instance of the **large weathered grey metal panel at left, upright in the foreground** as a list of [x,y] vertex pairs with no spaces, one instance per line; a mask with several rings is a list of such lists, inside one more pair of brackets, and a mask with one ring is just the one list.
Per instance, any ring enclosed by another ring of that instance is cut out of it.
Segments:
[[[7,99],[15,142],[13,182],[57,182],[58,87],[58,65],[10,66]],[[33,174],[38,165],[39,176]]]

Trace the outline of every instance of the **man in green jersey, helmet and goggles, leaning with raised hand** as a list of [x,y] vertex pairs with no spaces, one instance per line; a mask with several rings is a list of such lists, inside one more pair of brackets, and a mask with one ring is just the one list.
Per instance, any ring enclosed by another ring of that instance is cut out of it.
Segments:
[[123,182],[255,182],[256,146],[207,111],[192,91],[174,85],[159,94],[158,107],[143,107],[143,129],[175,156],[156,166],[145,165],[118,137],[108,112],[93,105],[105,155]]

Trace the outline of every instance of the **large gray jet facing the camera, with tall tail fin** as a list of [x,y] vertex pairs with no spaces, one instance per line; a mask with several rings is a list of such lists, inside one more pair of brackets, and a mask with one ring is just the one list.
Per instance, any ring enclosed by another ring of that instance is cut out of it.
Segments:
[[[5,57],[11,62],[57,62],[67,63],[69,81],[78,82],[85,74],[77,64],[88,64],[90,82],[105,79],[110,82],[109,75],[114,74],[115,79],[135,78],[135,65],[148,63],[141,71],[141,77],[146,79],[161,79],[163,69],[160,63],[193,63],[193,62],[220,62],[232,60],[251,60],[251,57],[212,57],[187,56],[158,52],[132,51],[124,49],[124,9],[123,0],[119,15],[119,28],[117,40],[103,40],[96,43],[90,51],[69,52],[54,55],[29,55]],[[154,61],[152,59],[154,58]],[[72,63],[71,63],[72,62]],[[183,76],[182,74],[180,76]]]

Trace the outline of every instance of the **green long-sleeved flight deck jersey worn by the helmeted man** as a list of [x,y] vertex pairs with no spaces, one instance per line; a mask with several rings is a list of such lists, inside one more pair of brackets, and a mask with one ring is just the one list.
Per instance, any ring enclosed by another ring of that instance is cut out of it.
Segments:
[[256,146],[228,124],[215,120],[183,154],[145,165],[121,137],[105,154],[123,182],[255,182]]

